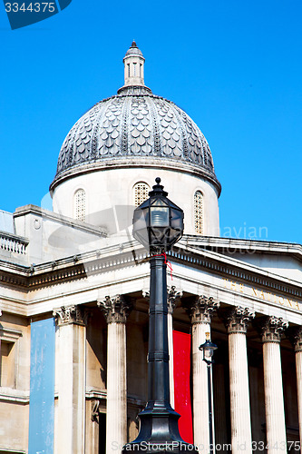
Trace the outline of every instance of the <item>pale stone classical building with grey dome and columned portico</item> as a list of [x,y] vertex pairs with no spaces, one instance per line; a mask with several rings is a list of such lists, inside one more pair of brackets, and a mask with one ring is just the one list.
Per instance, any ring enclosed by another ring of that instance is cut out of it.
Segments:
[[294,452],[302,248],[219,237],[209,144],[145,86],[134,42],[123,62],[125,84],[63,143],[54,211],[0,212],[0,453],[111,454],[135,439],[147,396],[150,270],[132,212],[157,176],[185,213],[168,273],[170,396],[183,438],[209,452],[199,346],[210,332],[216,451]]

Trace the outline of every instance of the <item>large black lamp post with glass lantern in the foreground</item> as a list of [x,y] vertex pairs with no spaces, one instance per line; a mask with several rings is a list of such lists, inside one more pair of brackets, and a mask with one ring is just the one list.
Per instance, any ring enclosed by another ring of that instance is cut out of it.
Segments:
[[[134,441],[122,452],[144,453],[194,451],[180,438],[180,415],[170,406],[169,351],[167,323],[167,266],[164,252],[180,240],[183,212],[167,199],[161,178],[156,178],[150,198],[135,209],[133,236],[151,253],[148,402],[140,413],[141,429]],[[195,451],[196,452],[196,451]]]

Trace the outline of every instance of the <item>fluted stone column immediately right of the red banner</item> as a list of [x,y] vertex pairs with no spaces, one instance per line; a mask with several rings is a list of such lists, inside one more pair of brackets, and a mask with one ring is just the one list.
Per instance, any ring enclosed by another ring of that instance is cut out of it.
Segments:
[[209,453],[208,372],[199,347],[206,341],[206,332],[210,332],[211,316],[217,309],[219,309],[219,302],[214,302],[212,298],[205,296],[199,296],[187,305],[192,323],[194,444],[201,453],[206,454]]

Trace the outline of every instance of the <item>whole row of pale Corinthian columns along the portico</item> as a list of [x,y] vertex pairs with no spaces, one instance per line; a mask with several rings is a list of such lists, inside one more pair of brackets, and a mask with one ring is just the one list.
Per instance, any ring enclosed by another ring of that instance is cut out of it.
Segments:
[[[168,293],[170,321],[168,321],[169,350],[172,354],[172,311],[180,291],[175,288]],[[107,330],[107,427],[106,454],[116,452],[127,442],[127,386],[126,386],[126,321],[132,310],[132,301],[116,295],[99,301],[108,324]],[[186,304],[192,333],[192,393],[194,444],[200,452],[209,452],[209,407],[207,366],[202,360],[200,344],[210,332],[211,318],[219,310],[219,303],[212,298],[199,296]],[[253,322],[262,341],[266,436],[268,454],[287,452],[286,422],[283,399],[280,339],[287,329],[287,321],[274,316],[261,316],[253,321],[255,313],[247,308],[232,306],[219,310],[229,338],[229,396],[232,454],[251,454],[252,435],[248,390],[247,329]],[[61,449],[66,454],[82,454],[84,443],[85,400],[85,320],[83,311],[77,307],[62,308],[54,315],[61,340],[57,366],[59,375],[59,431],[63,441]],[[302,433],[302,328],[291,331],[291,341],[296,352],[297,404],[299,433]],[[172,377],[172,361],[170,375]],[[69,380],[70,379],[70,380]],[[63,384],[65,383],[65,384]],[[173,381],[170,380],[173,402]],[[76,433],[75,429],[76,428]],[[79,431],[79,428],[81,430]],[[74,433],[73,433],[74,431]],[[66,434],[69,434],[67,437]],[[72,440],[72,441],[70,441]],[[300,440],[301,441],[301,440]],[[202,449],[203,447],[203,449]]]

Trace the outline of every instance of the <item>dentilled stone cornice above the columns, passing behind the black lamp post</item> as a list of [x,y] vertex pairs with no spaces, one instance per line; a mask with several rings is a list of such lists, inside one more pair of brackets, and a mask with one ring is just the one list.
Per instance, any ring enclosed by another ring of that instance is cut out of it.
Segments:
[[[121,247],[122,246],[122,247]],[[121,252],[122,250],[122,252]],[[171,261],[207,271],[230,280],[262,286],[296,298],[302,298],[302,284],[269,271],[239,262],[218,252],[209,252],[179,244],[168,252]],[[56,262],[45,262],[34,267],[0,262],[0,281],[33,291],[63,281],[80,280],[93,274],[122,269],[148,262],[148,253],[138,242],[124,242],[102,250],[86,252]]]

